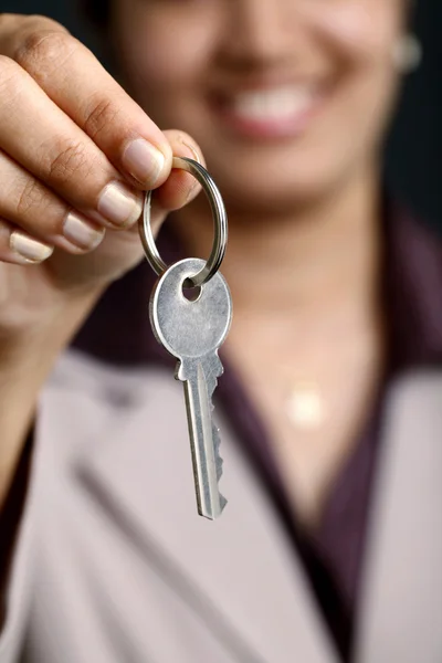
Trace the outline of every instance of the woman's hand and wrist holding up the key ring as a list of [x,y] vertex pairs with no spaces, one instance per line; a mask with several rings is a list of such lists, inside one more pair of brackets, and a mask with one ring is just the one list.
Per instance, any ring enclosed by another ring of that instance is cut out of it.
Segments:
[[0,14],[0,506],[54,359],[141,259],[141,191],[156,230],[199,191],[173,154],[199,156],[62,25]]

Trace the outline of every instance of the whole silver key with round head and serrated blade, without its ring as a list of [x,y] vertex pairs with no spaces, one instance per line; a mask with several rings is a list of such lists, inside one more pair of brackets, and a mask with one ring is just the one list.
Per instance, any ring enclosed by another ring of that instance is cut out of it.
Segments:
[[219,272],[201,286],[194,302],[187,299],[182,285],[204,264],[191,257],[162,274],[150,298],[150,322],[157,340],[178,359],[175,377],[185,383],[198,513],[213,520],[227,499],[218,486],[222,460],[212,394],[223,372],[218,349],[230,328],[232,301]]

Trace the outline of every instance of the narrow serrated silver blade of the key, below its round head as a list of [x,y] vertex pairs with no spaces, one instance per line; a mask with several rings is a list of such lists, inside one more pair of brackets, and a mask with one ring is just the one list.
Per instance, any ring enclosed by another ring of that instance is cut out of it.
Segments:
[[[178,378],[182,379],[180,371]],[[218,487],[222,474],[220,435],[212,423],[213,406],[204,369],[200,362],[196,370],[186,376],[183,383],[198,513],[204,518],[214,520],[221,515],[227,499],[220,494]]]

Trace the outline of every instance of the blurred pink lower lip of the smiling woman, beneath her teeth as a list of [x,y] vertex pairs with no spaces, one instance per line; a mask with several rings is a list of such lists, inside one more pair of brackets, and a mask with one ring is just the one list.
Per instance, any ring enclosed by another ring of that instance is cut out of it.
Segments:
[[269,119],[248,118],[238,115],[233,108],[221,105],[217,105],[215,112],[225,126],[243,138],[294,138],[306,131],[322,104],[323,99],[318,97],[302,112]]

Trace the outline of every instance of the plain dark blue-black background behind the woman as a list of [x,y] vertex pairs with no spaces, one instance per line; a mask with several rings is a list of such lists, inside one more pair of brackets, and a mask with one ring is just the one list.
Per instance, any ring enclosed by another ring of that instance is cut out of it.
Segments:
[[[423,46],[423,62],[404,83],[387,146],[387,181],[442,231],[442,0],[417,0],[417,4],[413,28]],[[51,15],[101,55],[94,32],[74,0],[0,0],[0,11]]]

